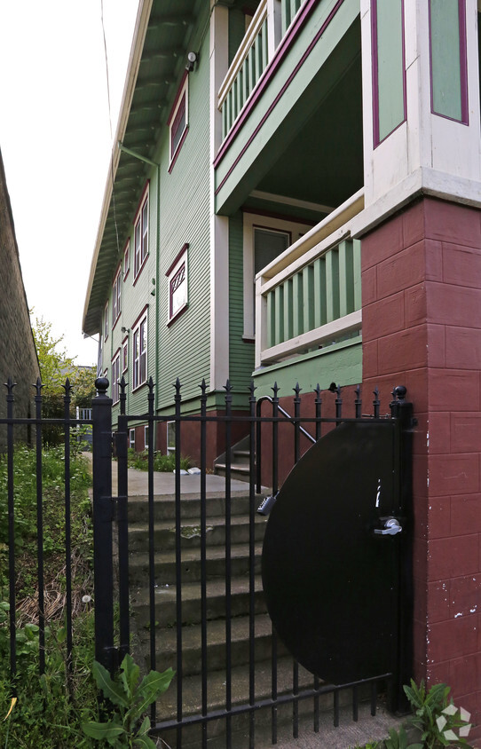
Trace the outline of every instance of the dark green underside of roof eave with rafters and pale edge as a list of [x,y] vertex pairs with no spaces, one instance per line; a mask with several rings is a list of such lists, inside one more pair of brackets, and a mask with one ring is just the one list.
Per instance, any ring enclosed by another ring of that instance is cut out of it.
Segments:
[[202,0],[141,0],[139,4],[83,311],[83,331],[89,335],[100,330],[106,293],[148,169],[145,162],[121,152],[117,142],[154,161],[201,5]]

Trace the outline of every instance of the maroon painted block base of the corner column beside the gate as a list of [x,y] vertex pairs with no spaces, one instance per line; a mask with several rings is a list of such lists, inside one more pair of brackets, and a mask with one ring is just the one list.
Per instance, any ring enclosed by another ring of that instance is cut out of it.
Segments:
[[362,293],[364,398],[405,384],[418,419],[414,678],[481,723],[481,212],[423,199],[388,219],[362,240]]

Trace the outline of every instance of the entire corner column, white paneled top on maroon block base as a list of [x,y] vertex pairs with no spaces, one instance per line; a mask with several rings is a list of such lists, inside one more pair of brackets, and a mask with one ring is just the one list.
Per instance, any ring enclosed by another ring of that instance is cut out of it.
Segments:
[[[475,0],[362,0],[363,390],[414,434],[414,678],[481,723],[481,158]],[[474,729],[470,740],[481,736]]]

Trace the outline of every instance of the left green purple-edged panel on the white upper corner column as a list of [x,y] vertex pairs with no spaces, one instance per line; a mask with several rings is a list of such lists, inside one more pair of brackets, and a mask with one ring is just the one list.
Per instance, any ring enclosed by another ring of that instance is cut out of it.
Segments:
[[[445,2],[445,0],[442,0]],[[403,12],[401,0],[377,0],[378,140],[386,138],[405,119]]]

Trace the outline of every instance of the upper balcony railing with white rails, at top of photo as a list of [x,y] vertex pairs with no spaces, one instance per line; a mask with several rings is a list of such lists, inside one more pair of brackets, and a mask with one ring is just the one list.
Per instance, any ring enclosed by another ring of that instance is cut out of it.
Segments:
[[304,2],[261,0],[258,5],[218,93],[223,139],[264,75],[280,40]]

